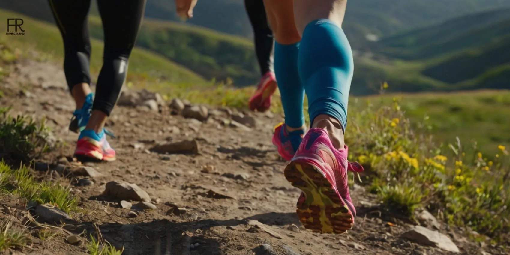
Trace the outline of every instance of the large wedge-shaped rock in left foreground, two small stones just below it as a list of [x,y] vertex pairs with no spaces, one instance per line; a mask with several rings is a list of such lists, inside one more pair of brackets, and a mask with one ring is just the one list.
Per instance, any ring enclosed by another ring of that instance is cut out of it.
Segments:
[[138,185],[126,182],[109,182],[106,184],[103,196],[120,200],[150,201],[150,196]]

